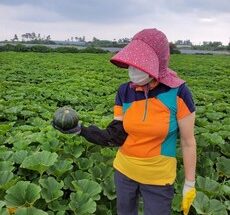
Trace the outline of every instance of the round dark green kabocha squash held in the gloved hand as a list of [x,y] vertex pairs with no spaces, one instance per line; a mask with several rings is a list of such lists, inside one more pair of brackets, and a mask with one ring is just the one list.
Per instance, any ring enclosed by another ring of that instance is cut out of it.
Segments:
[[74,128],[78,124],[77,113],[71,107],[61,107],[55,112],[53,123],[62,130]]

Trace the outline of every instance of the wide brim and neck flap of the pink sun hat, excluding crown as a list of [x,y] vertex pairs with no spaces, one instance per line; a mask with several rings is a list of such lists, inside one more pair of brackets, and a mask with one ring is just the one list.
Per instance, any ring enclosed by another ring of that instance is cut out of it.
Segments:
[[160,77],[158,56],[152,47],[142,40],[132,40],[127,46],[114,55],[110,62],[120,68],[127,69],[129,66],[136,67],[160,83],[172,88],[178,87],[185,82],[177,76],[175,71],[169,68],[167,68],[164,77]]

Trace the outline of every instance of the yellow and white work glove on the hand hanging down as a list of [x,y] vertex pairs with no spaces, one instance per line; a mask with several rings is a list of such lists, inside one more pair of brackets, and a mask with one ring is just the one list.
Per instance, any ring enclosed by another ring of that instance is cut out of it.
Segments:
[[189,209],[196,198],[195,181],[185,180],[183,188],[182,210],[184,215],[187,215]]

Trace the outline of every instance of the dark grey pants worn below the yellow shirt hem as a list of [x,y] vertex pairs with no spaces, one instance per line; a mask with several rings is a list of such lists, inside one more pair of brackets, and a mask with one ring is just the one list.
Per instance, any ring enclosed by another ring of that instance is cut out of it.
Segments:
[[144,215],[170,215],[174,195],[173,185],[146,185],[138,183],[115,170],[117,214],[137,215],[138,198],[144,202]]

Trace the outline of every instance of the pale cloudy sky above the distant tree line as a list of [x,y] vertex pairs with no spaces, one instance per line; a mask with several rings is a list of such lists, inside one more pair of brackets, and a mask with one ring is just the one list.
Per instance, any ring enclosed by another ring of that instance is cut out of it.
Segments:
[[52,40],[118,40],[145,28],[171,42],[228,44],[230,0],[0,0],[0,40],[31,32]]

